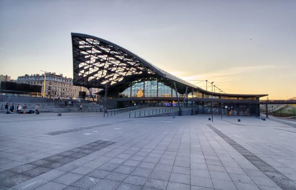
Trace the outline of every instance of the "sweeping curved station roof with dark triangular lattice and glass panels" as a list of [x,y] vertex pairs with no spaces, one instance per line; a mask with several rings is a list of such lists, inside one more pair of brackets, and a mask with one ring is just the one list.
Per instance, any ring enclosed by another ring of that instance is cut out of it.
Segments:
[[[212,94],[190,84],[149,63],[136,54],[105,39],[82,34],[72,34],[73,47],[73,83],[86,88],[108,90],[120,87],[124,91],[132,82],[158,79],[167,86],[176,83],[177,91],[185,94],[186,87],[204,94]],[[190,91],[188,91],[190,92]],[[214,93],[219,95],[219,93]],[[260,97],[265,95],[230,95],[231,97]]]

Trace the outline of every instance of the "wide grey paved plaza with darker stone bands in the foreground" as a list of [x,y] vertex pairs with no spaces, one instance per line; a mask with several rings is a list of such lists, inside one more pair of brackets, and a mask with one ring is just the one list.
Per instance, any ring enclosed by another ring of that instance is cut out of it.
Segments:
[[209,117],[0,114],[0,190],[296,189],[295,122]]

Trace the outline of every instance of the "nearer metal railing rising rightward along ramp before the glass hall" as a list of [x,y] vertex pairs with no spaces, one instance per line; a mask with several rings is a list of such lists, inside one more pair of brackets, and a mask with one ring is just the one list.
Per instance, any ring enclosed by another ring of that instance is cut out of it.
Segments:
[[[192,107],[184,107],[184,110],[192,109]],[[129,113],[129,118],[140,118],[145,116],[152,116],[157,114],[171,113],[179,111],[179,107],[160,108],[152,110],[141,110]]]

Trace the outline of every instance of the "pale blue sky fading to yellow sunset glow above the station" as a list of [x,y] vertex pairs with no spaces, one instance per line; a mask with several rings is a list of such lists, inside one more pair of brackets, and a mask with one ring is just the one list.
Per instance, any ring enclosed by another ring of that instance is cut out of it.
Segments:
[[295,10],[295,0],[0,0],[0,74],[73,77],[78,32],[201,88],[208,80],[287,99],[296,97]]

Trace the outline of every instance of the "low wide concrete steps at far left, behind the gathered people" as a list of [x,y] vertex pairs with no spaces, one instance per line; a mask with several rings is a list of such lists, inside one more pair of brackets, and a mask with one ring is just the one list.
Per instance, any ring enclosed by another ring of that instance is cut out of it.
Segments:
[[[25,104],[27,104],[28,108],[27,108],[27,112],[29,112],[30,110],[35,111],[36,110],[36,105],[38,104],[39,106],[39,112],[69,112],[68,108],[61,108],[61,106],[59,104],[56,103],[26,103],[26,102],[10,102],[10,104],[13,103],[14,104],[14,113],[16,113],[16,109],[17,109],[17,105],[21,104],[22,106],[24,106]],[[6,102],[0,102],[0,113],[5,113],[5,104]],[[9,109],[9,106],[8,106]],[[22,112],[24,111],[24,109],[22,109]]]

